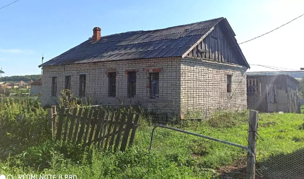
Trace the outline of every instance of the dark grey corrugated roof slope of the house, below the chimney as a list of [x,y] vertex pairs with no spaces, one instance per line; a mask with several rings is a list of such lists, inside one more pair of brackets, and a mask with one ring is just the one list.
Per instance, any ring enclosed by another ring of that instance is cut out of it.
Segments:
[[[133,31],[102,36],[41,64],[41,66],[182,56],[213,26],[225,18],[211,19],[166,29]],[[226,19],[225,19],[226,20]]]

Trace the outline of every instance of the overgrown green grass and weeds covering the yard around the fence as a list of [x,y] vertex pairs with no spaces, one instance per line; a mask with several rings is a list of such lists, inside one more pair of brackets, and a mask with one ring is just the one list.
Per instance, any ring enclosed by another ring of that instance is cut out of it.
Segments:
[[[64,93],[62,102],[64,103]],[[67,106],[80,104],[70,101]],[[26,119],[16,123],[16,115]],[[78,178],[214,178],[219,168],[244,161],[246,151],[184,133],[157,128],[148,151],[153,125],[140,118],[134,147],[125,153],[54,142],[47,126],[46,110],[37,100],[1,100],[1,174],[77,174]],[[193,118],[198,112],[189,113]],[[172,127],[247,146],[248,111],[219,112],[206,120],[183,120]],[[303,149],[303,114],[259,115],[257,161]],[[29,126],[29,127],[26,127]],[[31,130],[31,128],[34,130]],[[20,130],[22,129],[22,130]],[[30,132],[34,131],[34,132]],[[288,146],[288,147],[284,147]]]

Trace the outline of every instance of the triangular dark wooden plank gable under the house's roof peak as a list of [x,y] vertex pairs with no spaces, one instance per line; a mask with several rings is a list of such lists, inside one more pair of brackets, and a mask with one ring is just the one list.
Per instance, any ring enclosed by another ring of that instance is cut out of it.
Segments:
[[244,65],[242,60],[238,60],[240,55],[236,54],[239,52],[237,52],[235,44],[228,41],[228,39],[231,39],[231,37],[227,37],[228,35],[217,24],[211,33],[189,52],[187,56]]

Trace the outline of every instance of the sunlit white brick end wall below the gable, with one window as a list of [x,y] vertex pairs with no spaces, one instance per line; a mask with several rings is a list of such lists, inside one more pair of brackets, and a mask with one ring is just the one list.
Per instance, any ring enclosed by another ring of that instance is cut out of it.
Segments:
[[[246,67],[234,64],[189,57],[181,59],[182,107],[205,113],[246,109],[246,70]],[[227,93],[226,75],[232,75],[232,93]]]

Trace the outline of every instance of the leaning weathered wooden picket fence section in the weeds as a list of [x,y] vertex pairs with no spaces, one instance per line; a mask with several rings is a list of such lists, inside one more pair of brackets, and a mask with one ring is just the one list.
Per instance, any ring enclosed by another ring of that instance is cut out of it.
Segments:
[[[125,151],[129,140],[132,147],[139,114],[98,108],[74,108],[70,113],[64,106],[57,114],[56,106],[48,109],[49,126],[55,140],[76,142],[85,147],[94,144],[103,150]],[[58,116],[58,117],[57,117]],[[58,121],[56,120],[58,118]],[[132,130],[132,131],[131,131]]]

